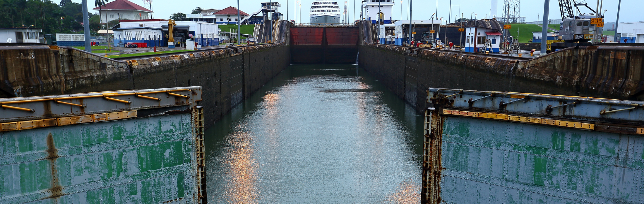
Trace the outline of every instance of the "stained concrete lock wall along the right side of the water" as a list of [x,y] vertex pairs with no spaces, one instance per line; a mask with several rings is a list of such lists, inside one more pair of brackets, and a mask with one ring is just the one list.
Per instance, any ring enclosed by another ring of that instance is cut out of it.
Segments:
[[370,43],[361,25],[359,65],[422,111],[428,87],[644,100],[644,49],[569,47],[533,59]]

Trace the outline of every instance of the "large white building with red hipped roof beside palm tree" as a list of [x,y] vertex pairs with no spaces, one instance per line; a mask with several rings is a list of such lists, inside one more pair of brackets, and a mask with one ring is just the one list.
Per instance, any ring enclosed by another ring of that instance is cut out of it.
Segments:
[[100,12],[100,22],[151,19],[153,11],[128,0],[115,0],[93,8]]

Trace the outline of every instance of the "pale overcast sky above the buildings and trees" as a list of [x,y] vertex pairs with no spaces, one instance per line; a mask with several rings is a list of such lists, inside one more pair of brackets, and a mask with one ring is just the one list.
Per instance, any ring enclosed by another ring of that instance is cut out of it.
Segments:
[[[53,0],[58,1],[58,0]],[[81,3],[81,0],[73,0],[77,3]],[[114,0],[111,0],[114,1]],[[145,6],[142,0],[129,0],[133,3]],[[314,0],[302,0],[301,1],[301,19],[303,22],[309,22],[308,18],[308,8],[310,8],[311,3]],[[348,19],[358,19],[360,16],[360,0],[345,0],[349,1],[349,14]],[[401,3],[400,0],[394,0],[395,5],[393,6],[393,20],[401,19]],[[413,0],[412,0],[413,1]],[[436,3],[438,1],[438,16],[444,17],[443,20],[448,19],[448,14],[450,13],[450,1],[449,0],[415,0],[413,1],[413,11],[412,17],[415,20],[426,20],[429,19],[433,13],[436,13]],[[498,13],[497,15],[502,15],[504,0],[498,1]],[[579,0],[578,0],[579,1]],[[583,1],[583,0],[582,0]],[[597,1],[594,0],[585,0],[593,10],[596,8]],[[604,22],[614,22],[617,16],[617,4],[618,0],[600,0],[603,1],[602,10],[608,10],[605,15]],[[269,2],[262,0],[240,0],[240,8],[243,12],[252,14],[260,9],[260,2]],[[286,19],[287,16],[287,1],[278,0],[274,1],[281,4],[281,8],[278,8],[279,12],[283,13]],[[342,0],[338,0],[339,4],[344,4]],[[289,1],[289,19],[294,19],[294,5],[295,1]],[[355,4],[355,7],[354,7]],[[403,0],[402,14],[403,19],[407,20],[409,18],[409,9],[408,9],[409,0]],[[451,9],[451,22],[454,21],[455,15],[458,15],[460,18],[460,13],[463,13],[463,16],[469,18],[472,13],[477,13],[477,18],[482,19],[489,18],[491,0],[451,0],[452,9]],[[459,6],[460,5],[460,6]],[[94,8],[94,1],[88,0],[88,6],[90,6],[90,11]],[[193,1],[175,1],[175,0],[153,0],[152,10],[153,17],[155,19],[168,19],[172,13],[190,13],[196,6],[201,6],[202,8],[216,8],[223,9],[228,6],[237,7],[236,1],[205,1],[205,0],[193,0]],[[621,1],[621,15],[620,22],[636,22],[644,21],[644,0],[622,0]],[[355,13],[354,13],[355,11]],[[95,11],[93,11],[95,12]],[[521,16],[526,17],[526,21],[541,21],[542,19],[537,19],[538,15],[543,15],[544,13],[544,0],[524,0],[521,2]],[[557,0],[550,0],[550,15],[549,19],[561,19],[561,14],[559,12],[559,6]],[[582,12],[589,13],[587,9],[582,9]],[[355,14],[355,17],[354,17]],[[541,18],[541,17],[540,17]]]

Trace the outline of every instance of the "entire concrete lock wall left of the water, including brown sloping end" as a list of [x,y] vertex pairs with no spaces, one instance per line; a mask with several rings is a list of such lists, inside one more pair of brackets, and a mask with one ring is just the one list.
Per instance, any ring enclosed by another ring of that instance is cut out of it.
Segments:
[[0,98],[198,85],[209,126],[290,64],[289,24],[278,24],[278,43],[126,61],[73,47],[0,46]]

